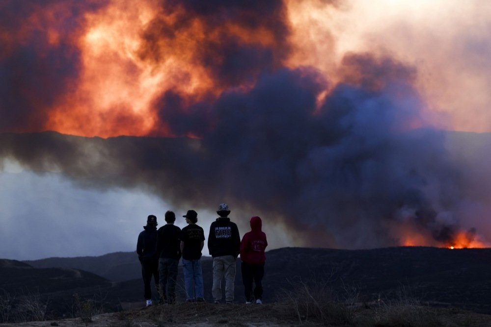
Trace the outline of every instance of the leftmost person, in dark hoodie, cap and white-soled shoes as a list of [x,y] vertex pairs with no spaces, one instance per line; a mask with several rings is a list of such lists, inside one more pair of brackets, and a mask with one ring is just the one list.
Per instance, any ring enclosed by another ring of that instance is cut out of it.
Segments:
[[141,275],[143,277],[144,294],[146,305],[152,305],[152,276],[155,279],[155,286],[159,289],[159,259],[155,253],[157,244],[157,217],[149,215],[147,226],[143,226],[143,231],[138,235],[136,242],[136,253],[141,263]]

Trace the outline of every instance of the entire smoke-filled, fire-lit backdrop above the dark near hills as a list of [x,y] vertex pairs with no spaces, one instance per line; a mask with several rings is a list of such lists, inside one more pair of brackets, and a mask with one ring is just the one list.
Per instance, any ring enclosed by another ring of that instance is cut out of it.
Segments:
[[487,0],[1,1],[0,257],[223,202],[269,249],[488,247],[490,34]]

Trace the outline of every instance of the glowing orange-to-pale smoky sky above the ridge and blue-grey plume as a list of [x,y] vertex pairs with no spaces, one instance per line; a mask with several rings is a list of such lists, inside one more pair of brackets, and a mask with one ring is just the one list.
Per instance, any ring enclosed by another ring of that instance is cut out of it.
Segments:
[[211,9],[193,1],[12,3],[2,4],[0,58],[11,70],[3,97],[17,99],[1,110],[20,112],[3,131],[175,136],[159,117],[172,109],[156,107],[167,91],[190,106],[251,88],[264,72],[310,67],[328,81],[323,97],[341,82],[373,83],[369,67],[346,67],[352,53],[413,69],[426,124],[491,131],[487,1],[238,2],[233,10],[222,1]]

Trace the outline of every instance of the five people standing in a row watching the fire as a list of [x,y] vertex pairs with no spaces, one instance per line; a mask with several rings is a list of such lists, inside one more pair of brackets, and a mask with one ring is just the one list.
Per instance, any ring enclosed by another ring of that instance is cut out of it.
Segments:
[[[212,296],[215,303],[222,301],[221,284],[225,279],[225,302],[234,302],[236,260],[241,257],[242,281],[246,303],[262,303],[266,234],[261,218],[250,219],[251,230],[240,238],[239,228],[230,220],[227,204],[218,206],[218,218],[211,224],[208,250],[213,258]],[[174,212],[165,213],[166,224],[157,229],[157,217],[149,215],[147,225],[138,235],[136,253],[141,263],[146,305],[152,305],[152,277],[159,290],[159,304],[174,303],[179,260],[182,257],[186,301],[204,302],[201,255],[205,242],[204,230],[196,225],[198,214],[188,210],[187,226],[174,225]]]

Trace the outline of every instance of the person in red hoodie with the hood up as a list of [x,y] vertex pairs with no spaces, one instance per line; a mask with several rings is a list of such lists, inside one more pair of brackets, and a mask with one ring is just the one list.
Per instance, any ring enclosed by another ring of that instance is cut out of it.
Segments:
[[[250,219],[250,231],[242,238],[241,242],[241,272],[242,282],[246,295],[246,304],[256,300],[257,304],[263,303],[264,263],[266,255],[264,250],[268,246],[266,234],[261,230],[261,218],[254,216]],[[255,283],[254,291],[252,283]]]

